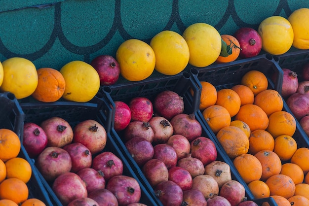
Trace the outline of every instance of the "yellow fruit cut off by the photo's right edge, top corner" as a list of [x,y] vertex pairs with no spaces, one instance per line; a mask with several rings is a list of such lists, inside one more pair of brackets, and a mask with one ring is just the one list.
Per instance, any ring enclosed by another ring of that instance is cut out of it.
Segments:
[[293,46],[298,49],[309,49],[309,8],[300,8],[288,18],[291,23],[294,40]]

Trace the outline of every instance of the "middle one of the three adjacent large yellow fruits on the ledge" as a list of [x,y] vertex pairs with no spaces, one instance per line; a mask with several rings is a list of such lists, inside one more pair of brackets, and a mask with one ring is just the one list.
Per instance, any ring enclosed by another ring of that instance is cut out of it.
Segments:
[[175,75],[187,67],[190,52],[182,35],[173,31],[162,31],[151,39],[150,46],[154,50],[156,71]]

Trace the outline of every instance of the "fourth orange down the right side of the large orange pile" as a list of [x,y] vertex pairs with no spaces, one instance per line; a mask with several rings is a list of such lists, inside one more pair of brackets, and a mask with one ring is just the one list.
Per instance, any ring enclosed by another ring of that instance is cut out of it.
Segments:
[[291,159],[297,150],[297,142],[295,139],[288,135],[280,135],[274,139],[273,151],[279,156],[281,161]]

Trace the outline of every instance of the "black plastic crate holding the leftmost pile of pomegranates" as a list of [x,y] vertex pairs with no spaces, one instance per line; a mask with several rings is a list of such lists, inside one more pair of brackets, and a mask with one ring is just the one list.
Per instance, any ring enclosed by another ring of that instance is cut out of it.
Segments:
[[[93,119],[102,124],[107,132],[107,143],[103,151],[113,152],[118,158],[122,160],[123,163],[123,175],[127,175],[135,178],[141,187],[141,200],[140,203],[146,205],[155,205],[154,200],[151,195],[145,189],[144,185],[138,179],[133,169],[130,167],[129,163],[125,159],[121,150],[118,148],[114,138],[110,134],[111,118],[112,118],[112,107],[111,103],[103,96],[98,93],[98,95],[93,98],[88,103],[75,103],[75,102],[54,102],[54,103],[21,103],[21,108],[25,113],[25,122],[33,122],[39,124],[41,121],[48,119],[53,116],[61,117],[68,121],[72,128],[74,128],[77,123]],[[102,152],[103,152],[102,151]],[[35,160],[33,160],[35,161]],[[36,168],[38,171],[38,169]],[[39,172],[38,172],[39,173]],[[61,206],[61,202],[51,189],[51,183],[47,182],[42,175],[39,173],[44,187],[53,198],[53,204]]]

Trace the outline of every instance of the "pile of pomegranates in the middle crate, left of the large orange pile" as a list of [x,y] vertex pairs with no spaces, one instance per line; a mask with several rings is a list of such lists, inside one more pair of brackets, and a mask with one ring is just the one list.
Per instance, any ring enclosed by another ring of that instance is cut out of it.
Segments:
[[163,206],[257,206],[177,93],[115,101],[114,128]]

